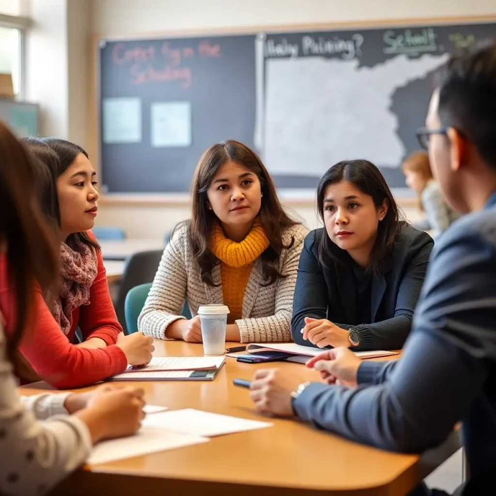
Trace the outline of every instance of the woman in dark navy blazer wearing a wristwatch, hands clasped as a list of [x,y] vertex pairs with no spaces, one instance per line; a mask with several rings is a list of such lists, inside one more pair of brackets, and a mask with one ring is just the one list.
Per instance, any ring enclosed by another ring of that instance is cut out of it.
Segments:
[[296,343],[399,349],[412,325],[432,238],[404,220],[367,160],[339,162],[320,180],[325,228],[300,256],[291,330]]

